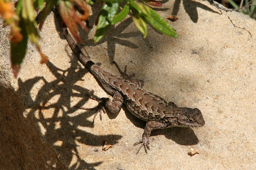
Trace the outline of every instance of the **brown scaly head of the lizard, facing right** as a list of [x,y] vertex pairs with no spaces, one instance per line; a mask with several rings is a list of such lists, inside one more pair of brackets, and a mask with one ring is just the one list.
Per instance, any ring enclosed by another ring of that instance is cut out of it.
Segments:
[[177,125],[185,127],[201,127],[204,126],[204,118],[201,111],[198,108],[182,109],[182,113],[177,115]]

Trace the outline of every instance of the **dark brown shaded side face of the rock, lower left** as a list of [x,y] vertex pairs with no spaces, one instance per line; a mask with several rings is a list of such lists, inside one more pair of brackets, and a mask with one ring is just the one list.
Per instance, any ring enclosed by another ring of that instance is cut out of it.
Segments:
[[[32,117],[1,72],[1,169],[67,169],[52,146],[41,140]],[[3,77],[2,77],[3,76]]]

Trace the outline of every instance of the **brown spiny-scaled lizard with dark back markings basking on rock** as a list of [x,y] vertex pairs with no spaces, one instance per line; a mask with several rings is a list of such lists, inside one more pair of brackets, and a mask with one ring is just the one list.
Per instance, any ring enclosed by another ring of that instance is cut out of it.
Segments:
[[143,146],[146,153],[150,150],[148,145],[149,136],[153,129],[165,129],[174,126],[204,126],[204,118],[198,108],[177,107],[173,102],[167,103],[162,97],[147,92],[142,88],[144,85],[143,81],[131,79],[134,77],[134,74],[130,76],[126,74],[127,66],[125,66],[123,72],[114,62],[123,77],[118,77],[103,70],[100,66],[90,60],[89,57],[84,55],[68,33],[67,28],[63,28],[63,34],[78,60],[100,81],[103,88],[109,94],[113,95],[113,100],[109,98],[100,99],[103,104],[94,114],[92,123],[94,123],[98,113],[100,113],[100,120],[102,119],[101,111],[105,113],[105,108],[111,113],[116,113],[121,109],[123,104],[132,115],[147,122],[141,140],[133,144],[133,146],[141,144],[137,154]]

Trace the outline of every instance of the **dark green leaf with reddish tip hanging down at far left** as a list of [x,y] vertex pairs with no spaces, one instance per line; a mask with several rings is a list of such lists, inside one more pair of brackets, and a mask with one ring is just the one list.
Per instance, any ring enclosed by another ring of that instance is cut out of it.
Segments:
[[11,41],[11,63],[14,77],[16,78],[20,69],[20,63],[25,57],[27,44],[28,44],[28,34],[26,32],[26,27],[23,19],[20,19],[19,27],[21,28],[21,34],[23,39],[18,43],[13,43]]

